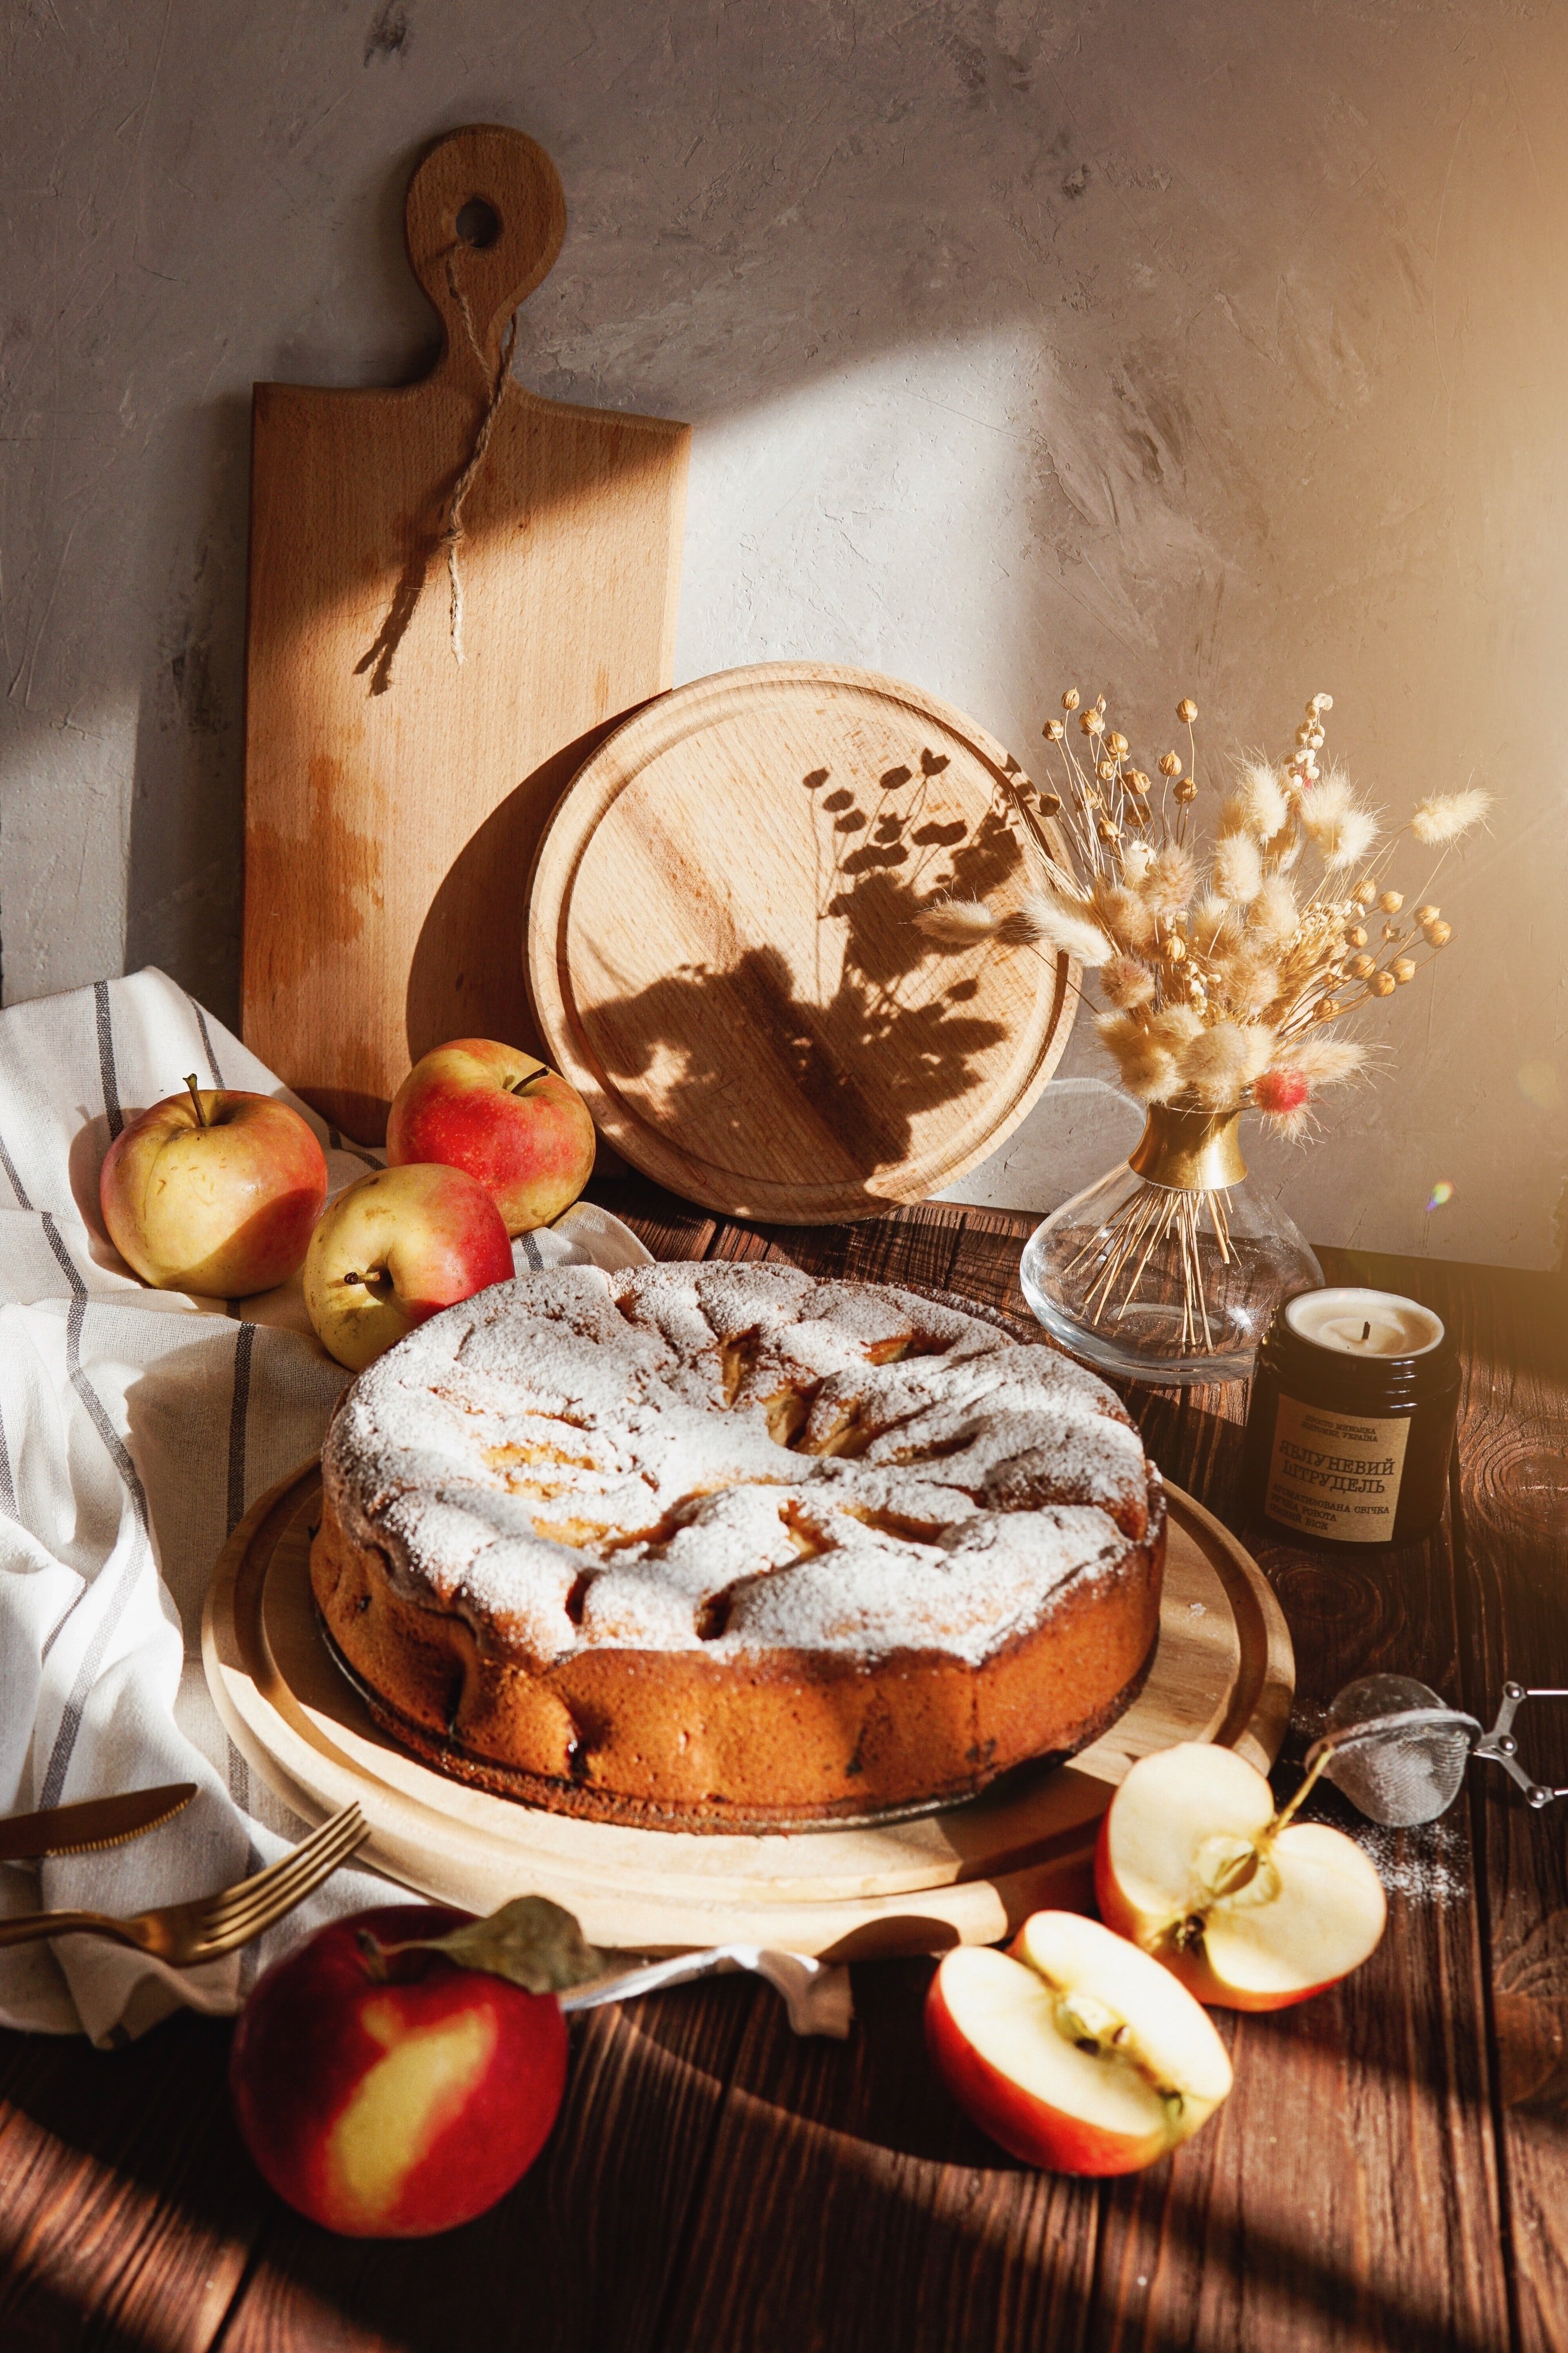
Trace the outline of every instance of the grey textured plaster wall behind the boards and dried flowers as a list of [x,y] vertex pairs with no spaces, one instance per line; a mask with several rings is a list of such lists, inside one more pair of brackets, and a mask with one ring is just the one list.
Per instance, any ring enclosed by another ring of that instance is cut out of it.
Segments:
[[[520,372],[698,428],[682,678],[884,666],[1025,765],[1065,680],[1140,746],[1326,687],[1385,805],[1497,791],[1380,1085],[1265,1162],[1319,1240],[1556,1264],[1566,101],[1549,0],[9,0],[7,998],[233,1016],[249,386],[416,372],[407,172],[517,122],[571,207]],[[1067,1071],[964,1193],[1110,1155]]]

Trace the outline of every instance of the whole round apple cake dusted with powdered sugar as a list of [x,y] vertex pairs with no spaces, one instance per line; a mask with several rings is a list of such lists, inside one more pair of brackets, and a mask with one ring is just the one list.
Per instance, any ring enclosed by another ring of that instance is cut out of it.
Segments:
[[320,1614],[378,1722],[559,1812],[788,1828],[1091,1741],[1164,1492],[997,1322],[788,1266],[562,1268],[390,1348],[324,1447]]

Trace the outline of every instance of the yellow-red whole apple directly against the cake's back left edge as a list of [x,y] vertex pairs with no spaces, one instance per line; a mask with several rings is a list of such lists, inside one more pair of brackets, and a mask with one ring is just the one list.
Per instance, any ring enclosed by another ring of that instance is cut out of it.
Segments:
[[512,1280],[494,1200],[463,1169],[357,1176],[322,1217],[306,1257],[306,1311],[322,1348],[364,1372],[440,1308]]

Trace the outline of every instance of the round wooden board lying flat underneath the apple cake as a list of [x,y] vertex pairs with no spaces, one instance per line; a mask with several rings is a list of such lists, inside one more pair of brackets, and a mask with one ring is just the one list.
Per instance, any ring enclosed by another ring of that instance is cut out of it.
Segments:
[[969,1805],[875,1828],[764,1838],[623,1831],[494,1798],[423,1765],[371,1722],[310,1598],[320,1468],[282,1480],[219,1558],[202,1657],[235,1746],[303,1814],[357,1800],[362,1859],[421,1894],[489,1913],[548,1894],[592,1944],[677,1953],[764,1944],[832,1960],[994,1944],[1041,1906],[1084,1908],[1100,1814],[1135,1762],[1218,1741],[1267,1769],[1295,1661],[1258,1562],[1168,1487],[1159,1649],[1128,1713],[1072,1765]]

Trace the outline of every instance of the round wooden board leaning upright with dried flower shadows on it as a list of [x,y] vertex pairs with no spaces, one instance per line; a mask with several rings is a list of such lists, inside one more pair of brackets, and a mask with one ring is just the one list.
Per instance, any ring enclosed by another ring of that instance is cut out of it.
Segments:
[[924,1200],[997,1151],[1063,1054],[1077,974],[933,946],[914,915],[1018,904],[1004,776],[961,711],[813,661],[618,727],[543,835],[527,946],[541,1033],[616,1151],[788,1224]]

